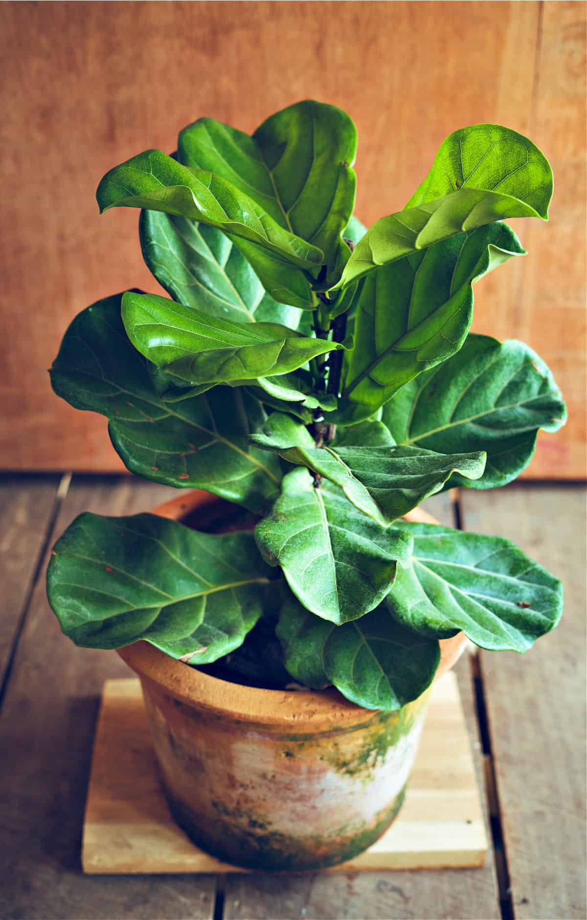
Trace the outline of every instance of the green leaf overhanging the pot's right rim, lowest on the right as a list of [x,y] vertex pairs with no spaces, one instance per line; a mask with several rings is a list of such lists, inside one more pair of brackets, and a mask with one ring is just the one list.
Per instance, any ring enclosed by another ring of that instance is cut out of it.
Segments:
[[406,627],[446,638],[462,630],[482,649],[528,650],[562,614],[559,580],[510,540],[428,523],[412,534],[412,560],[398,568],[386,604]]

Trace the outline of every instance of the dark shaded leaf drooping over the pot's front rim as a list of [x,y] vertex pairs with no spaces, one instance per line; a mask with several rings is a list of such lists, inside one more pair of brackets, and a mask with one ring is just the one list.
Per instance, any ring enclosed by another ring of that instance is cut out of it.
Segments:
[[435,639],[402,627],[382,606],[337,627],[290,598],[281,609],[277,636],[292,677],[317,689],[334,684],[367,709],[400,709],[417,699],[440,662]]

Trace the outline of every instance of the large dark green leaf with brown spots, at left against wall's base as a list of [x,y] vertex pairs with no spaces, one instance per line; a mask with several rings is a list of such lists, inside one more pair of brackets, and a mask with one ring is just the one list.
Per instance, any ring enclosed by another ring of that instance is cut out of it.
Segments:
[[133,473],[265,509],[278,494],[281,471],[277,457],[248,441],[265,423],[260,403],[225,386],[179,404],[162,402],[125,333],[121,297],[98,301],[73,320],[51,369],[57,395],[107,416],[112,443]]

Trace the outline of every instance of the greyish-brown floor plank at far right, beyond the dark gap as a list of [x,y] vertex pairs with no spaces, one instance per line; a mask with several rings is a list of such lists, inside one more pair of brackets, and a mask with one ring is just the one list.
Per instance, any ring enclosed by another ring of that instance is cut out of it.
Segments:
[[524,657],[480,656],[518,920],[580,920],[585,905],[585,491],[463,490],[467,528],[508,536],[563,582],[557,629]]

